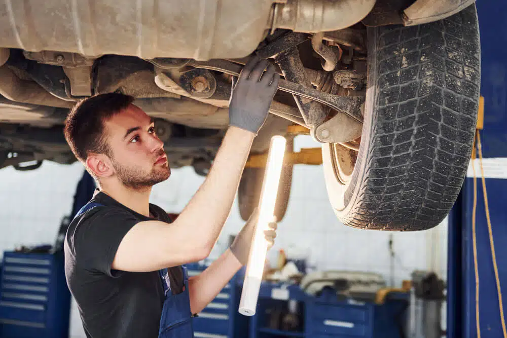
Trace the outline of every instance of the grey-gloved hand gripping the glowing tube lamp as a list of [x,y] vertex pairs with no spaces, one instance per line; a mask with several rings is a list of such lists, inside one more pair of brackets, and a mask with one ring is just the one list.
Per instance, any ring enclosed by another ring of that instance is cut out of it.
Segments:
[[[246,265],[248,262],[248,254],[250,253],[250,246],[252,243],[253,234],[259,218],[259,208],[253,210],[250,217],[246,221],[243,229],[239,232],[238,236],[234,239],[230,249],[232,253],[238,258],[242,265]],[[273,216],[273,221],[268,224],[269,230],[264,231],[264,237],[268,241],[268,250],[271,249],[275,243],[276,237],[276,217]]]

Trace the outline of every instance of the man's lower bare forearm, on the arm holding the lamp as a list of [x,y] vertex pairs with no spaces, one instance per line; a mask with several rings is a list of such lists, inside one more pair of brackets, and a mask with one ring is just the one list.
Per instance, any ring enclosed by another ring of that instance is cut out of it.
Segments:
[[241,267],[239,260],[228,249],[200,275],[191,277],[189,294],[192,313],[201,312]]

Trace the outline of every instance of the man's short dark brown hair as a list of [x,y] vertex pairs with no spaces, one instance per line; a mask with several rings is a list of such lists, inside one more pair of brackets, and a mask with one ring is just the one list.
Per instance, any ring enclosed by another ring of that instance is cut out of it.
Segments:
[[126,109],[134,98],[120,93],[98,94],[78,102],[64,122],[63,134],[76,158],[89,153],[110,155],[104,138],[104,121]]

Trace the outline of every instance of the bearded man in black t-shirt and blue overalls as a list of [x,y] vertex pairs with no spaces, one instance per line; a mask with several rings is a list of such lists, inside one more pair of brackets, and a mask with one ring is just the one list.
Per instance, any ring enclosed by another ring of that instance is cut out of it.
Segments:
[[[70,223],[64,244],[67,284],[87,337],[193,336],[191,317],[246,264],[258,211],[199,276],[188,278],[184,265],[207,257],[218,239],[279,79],[272,64],[253,57],[233,80],[222,145],[172,222],[149,203],[152,186],[171,170],[153,121],[133,98],[100,94],[71,110],[65,138],[98,186]],[[270,247],[275,230],[273,222],[265,232]]]

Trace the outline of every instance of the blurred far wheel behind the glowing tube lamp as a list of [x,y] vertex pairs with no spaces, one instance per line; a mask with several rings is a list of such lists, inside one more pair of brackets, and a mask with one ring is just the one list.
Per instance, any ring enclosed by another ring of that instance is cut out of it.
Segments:
[[[286,151],[294,151],[294,139],[287,138]],[[287,157],[285,157],[287,159]],[[239,213],[243,220],[250,217],[253,209],[259,205],[264,168],[245,168],[238,187]],[[276,196],[275,216],[277,221],[283,219],[291,195],[293,164],[284,161],[280,175],[278,195]]]

